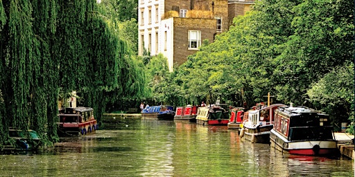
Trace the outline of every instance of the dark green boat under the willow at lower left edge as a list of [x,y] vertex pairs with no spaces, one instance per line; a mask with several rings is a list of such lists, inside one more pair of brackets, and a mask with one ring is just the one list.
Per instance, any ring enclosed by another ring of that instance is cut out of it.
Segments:
[[10,128],[8,134],[10,140],[1,148],[1,151],[37,151],[40,147],[40,138],[36,131]]

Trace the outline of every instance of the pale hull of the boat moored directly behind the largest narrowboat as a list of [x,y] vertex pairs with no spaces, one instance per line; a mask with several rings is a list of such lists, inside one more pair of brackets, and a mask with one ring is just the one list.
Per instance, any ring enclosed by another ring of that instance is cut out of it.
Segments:
[[245,137],[245,139],[250,140],[250,142],[257,142],[257,143],[270,143],[270,130],[272,129],[273,125],[268,124],[265,126],[260,126],[256,128],[248,128],[243,127],[243,133],[241,131],[241,137]]

